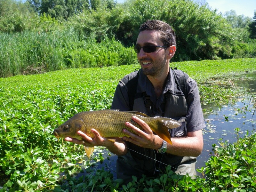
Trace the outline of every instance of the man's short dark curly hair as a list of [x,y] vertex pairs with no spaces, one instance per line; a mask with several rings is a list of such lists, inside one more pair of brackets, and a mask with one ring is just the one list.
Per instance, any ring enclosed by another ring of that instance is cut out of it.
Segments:
[[164,46],[176,46],[176,36],[172,27],[160,20],[148,20],[140,25],[140,31],[144,30],[158,30],[160,32],[160,39]]

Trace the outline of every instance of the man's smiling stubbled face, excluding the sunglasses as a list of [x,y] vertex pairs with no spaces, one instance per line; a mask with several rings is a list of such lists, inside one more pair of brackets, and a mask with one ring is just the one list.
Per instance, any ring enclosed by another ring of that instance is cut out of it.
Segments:
[[[156,30],[141,31],[137,38],[136,45],[141,47],[145,45],[164,46],[163,42],[160,40],[159,32]],[[164,47],[157,47],[156,51],[151,53],[146,53],[141,48],[140,52],[137,53],[137,58],[143,73],[157,78],[165,70],[169,71],[169,59],[167,59],[167,55],[168,50]]]

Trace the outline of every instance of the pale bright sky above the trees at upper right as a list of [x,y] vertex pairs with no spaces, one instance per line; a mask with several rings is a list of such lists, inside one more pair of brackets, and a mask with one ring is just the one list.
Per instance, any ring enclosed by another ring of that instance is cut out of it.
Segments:
[[[123,3],[125,0],[117,0],[118,3]],[[202,1],[204,2],[204,1]],[[208,2],[212,10],[217,9],[217,13],[235,10],[236,15],[244,15],[248,17],[254,16],[256,10],[256,0],[205,0]]]

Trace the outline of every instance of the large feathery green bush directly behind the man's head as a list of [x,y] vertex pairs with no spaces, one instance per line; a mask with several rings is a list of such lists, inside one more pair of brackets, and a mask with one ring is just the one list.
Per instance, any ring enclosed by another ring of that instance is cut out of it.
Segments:
[[206,5],[187,0],[131,0],[128,4],[117,38],[135,43],[140,24],[158,19],[175,30],[178,49],[174,61],[232,58],[232,28]]

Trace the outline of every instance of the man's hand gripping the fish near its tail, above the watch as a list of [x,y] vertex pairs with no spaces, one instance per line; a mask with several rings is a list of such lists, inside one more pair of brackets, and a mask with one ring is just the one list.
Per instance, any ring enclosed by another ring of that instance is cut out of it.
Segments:
[[124,140],[129,141],[143,148],[161,148],[163,140],[159,136],[153,134],[148,124],[146,124],[143,120],[136,116],[132,116],[132,120],[138,123],[143,128],[143,130],[140,130],[133,124],[126,122],[125,126],[134,131],[135,134],[128,131],[127,129],[124,129],[123,132],[129,136],[123,137]]

